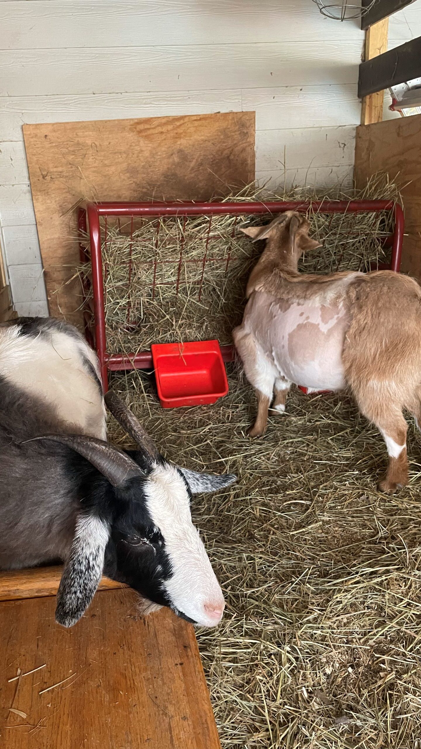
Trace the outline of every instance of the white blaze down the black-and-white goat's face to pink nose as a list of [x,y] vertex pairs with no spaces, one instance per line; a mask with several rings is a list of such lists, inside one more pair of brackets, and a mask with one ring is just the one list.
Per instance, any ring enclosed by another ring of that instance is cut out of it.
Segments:
[[225,601],[192,523],[190,498],[178,470],[170,465],[154,467],[145,494],[148,512],[163,534],[172,565],[172,577],[163,583],[172,607],[199,625],[218,624]]

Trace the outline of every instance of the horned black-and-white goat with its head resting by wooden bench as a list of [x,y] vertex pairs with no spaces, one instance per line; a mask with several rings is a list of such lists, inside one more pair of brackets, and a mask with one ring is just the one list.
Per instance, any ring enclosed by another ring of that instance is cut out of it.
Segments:
[[97,360],[73,327],[51,318],[0,326],[0,568],[64,560],[56,620],[67,627],[103,573],[138,591],[144,613],[169,606],[216,625],[224,599],[190,497],[235,476],[176,467],[114,393],[106,403],[139,449],[103,440]]

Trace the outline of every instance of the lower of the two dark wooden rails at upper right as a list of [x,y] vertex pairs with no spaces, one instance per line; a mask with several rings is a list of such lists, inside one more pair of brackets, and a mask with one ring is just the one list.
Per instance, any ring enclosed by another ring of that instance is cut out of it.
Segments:
[[421,77],[421,37],[383,52],[360,64],[358,96],[362,99],[375,91]]

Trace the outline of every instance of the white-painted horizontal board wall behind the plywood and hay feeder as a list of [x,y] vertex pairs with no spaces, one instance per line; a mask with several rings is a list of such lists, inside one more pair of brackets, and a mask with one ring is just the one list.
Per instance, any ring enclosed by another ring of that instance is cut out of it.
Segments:
[[46,314],[23,123],[255,110],[258,178],[348,186],[363,39],[312,0],[0,0],[1,239],[17,311]]

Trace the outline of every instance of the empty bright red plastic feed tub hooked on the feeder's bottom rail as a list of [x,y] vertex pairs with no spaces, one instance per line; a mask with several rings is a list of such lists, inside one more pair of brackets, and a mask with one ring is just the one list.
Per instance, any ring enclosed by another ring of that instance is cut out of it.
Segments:
[[163,408],[215,403],[227,394],[218,341],[155,343],[151,352]]

